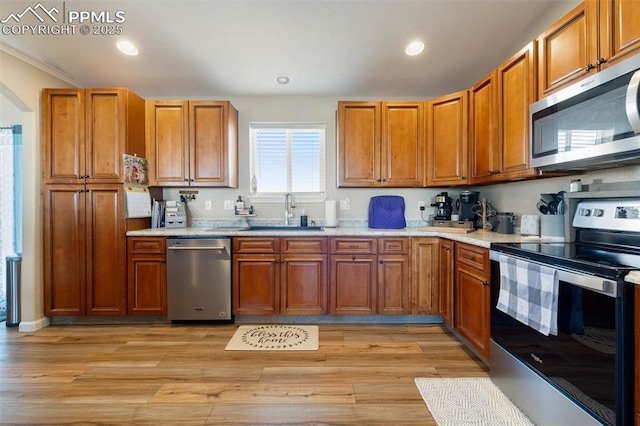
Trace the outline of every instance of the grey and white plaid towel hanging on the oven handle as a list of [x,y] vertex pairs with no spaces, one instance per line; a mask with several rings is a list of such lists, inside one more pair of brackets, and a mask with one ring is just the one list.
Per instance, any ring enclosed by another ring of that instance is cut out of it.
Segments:
[[553,268],[501,255],[496,308],[545,336],[557,335],[558,285]]

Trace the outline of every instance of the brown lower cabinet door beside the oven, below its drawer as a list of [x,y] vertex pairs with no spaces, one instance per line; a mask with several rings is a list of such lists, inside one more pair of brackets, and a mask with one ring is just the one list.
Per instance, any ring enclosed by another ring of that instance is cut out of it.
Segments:
[[489,357],[489,277],[457,266],[455,329],[482,355]]

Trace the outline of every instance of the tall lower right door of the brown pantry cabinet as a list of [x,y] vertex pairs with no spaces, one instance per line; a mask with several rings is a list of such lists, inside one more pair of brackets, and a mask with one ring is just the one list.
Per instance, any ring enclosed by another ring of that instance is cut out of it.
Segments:
[[127,310],[124,189],[120,185],[87,187],[87,314],[124,315]]

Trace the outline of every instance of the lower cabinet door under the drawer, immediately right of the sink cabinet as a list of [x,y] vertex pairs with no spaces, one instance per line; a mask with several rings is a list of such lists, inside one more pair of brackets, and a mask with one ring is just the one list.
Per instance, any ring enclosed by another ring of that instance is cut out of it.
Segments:
[[331,256],[331,314],[376,313],[376,259],[375,255]]

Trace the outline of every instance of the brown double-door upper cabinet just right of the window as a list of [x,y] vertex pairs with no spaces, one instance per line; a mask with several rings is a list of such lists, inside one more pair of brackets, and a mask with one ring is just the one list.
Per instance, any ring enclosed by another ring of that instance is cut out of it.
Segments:
[[338,102],[338,186],[424,186],[424,102]]

